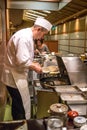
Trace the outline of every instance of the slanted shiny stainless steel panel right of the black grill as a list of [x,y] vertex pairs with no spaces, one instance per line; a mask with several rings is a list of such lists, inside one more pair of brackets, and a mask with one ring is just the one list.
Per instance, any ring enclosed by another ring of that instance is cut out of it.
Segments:
[[62,57],[67,69],[71,84],[87,84],[87,66],[80,57]]

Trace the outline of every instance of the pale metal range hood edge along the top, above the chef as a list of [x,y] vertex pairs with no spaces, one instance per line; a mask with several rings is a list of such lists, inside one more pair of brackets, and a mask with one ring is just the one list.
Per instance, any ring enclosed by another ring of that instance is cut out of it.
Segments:
[[7,9],[33,9],[33,10],[60,10],[71,0],[37,0],[37,1],[16,1],[7,2]]

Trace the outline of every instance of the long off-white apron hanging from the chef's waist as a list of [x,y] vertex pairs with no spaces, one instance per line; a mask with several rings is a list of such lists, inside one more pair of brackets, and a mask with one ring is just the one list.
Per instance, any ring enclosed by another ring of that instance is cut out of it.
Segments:
[[16,86],[21,94],[24,110],[25,110],[25,117],[26,119],[30,119],[31,117],[31,102],[30,102],[30,94],[27,82],[27,76],[25,73],[17,73],[14,70],[11,70],[14,81]]

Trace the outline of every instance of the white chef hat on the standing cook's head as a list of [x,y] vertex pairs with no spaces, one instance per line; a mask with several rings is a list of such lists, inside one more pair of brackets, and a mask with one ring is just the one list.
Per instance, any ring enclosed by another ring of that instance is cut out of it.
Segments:
[[37,18],[34,24],[39,25],[39,26],[47,29],[48,31],[50,31],[52,28],[52,24],[48,20],[41,18],[41,17]]

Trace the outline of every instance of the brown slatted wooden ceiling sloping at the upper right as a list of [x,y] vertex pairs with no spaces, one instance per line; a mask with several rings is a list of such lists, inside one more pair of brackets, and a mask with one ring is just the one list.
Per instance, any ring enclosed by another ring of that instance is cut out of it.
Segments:
[[60,24],[87,14],[87,0],[72,0],[59,11],[52,12],[47,19]]

